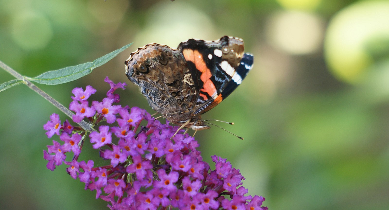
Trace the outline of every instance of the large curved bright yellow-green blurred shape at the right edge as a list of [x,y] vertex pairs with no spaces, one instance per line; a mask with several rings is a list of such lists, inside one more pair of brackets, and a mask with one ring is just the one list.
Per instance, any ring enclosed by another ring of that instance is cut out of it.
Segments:
[[324,43],[331,72],[355,83],[373,62],[366,44],[377,35],[389,37],[389,1],[357,2],[330,21]]

